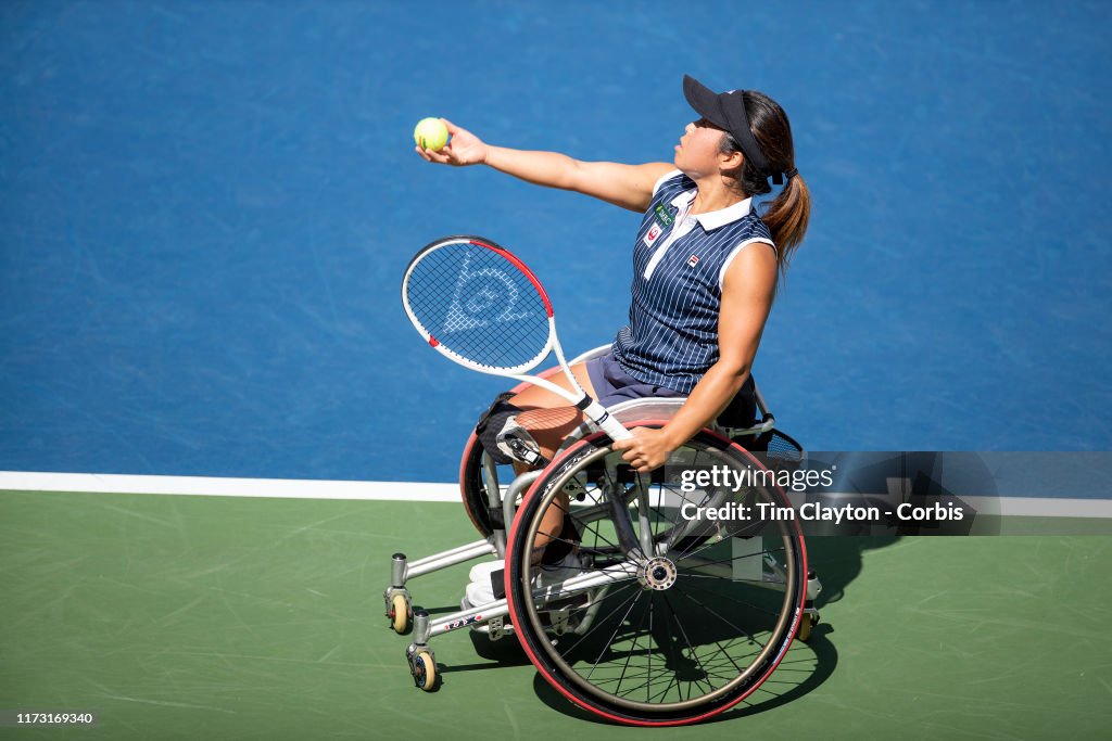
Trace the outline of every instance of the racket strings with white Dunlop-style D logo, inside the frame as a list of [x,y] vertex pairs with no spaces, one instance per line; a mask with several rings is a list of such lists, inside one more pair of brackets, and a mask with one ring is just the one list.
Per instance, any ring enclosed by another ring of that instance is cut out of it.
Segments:
[[493,250],[466,242],[429,250],[414,264],[406,297],[425,332],[473,363],[509,369],[547,354],[544,299]]

